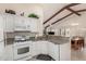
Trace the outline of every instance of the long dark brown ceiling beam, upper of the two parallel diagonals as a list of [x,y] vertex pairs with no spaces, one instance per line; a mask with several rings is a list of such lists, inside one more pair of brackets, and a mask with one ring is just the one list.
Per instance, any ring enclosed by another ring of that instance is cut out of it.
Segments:
[[44,24],[46,24],[47,22],[49,22],[51,18],[53,18],[56,15],[60,14],[63,10],[65,10],[66,8],[70,8],[70,7],[74,7],[74,5],[77,5],[77,4],[81,4],[81,3],[71,3],[71,4],[67,4],[65,7],[63,7],[61,10],[59,10],[57,13],[54,13],[51,17],[49,17],[46,22],[44,22]]

